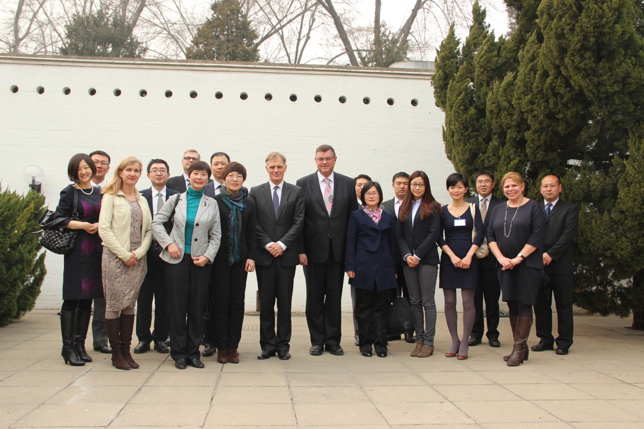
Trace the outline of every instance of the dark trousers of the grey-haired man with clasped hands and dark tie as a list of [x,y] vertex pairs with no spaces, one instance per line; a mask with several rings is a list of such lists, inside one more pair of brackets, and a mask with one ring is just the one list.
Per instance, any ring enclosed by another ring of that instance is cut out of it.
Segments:
[[[290,306],[293,299],[295,266],[285,267],[281,256],[268,266],[257,266],[257,285],[260,289],[260,346],[262,350],[289,351]],[[277,334],[275,330],[275,302],[278,303]]]

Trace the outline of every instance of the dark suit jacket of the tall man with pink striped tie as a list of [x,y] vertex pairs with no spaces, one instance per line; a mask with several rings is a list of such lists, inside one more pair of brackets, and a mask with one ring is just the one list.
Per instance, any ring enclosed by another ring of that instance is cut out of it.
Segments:
[[304,194],[304,228],[299,251],[306,253],[308,262],[327,262],[329,246],[337,262],[345,262],[346,224],[351,212],[357,210],[354,180],[334,172],[333,206],[328,215],[324,197],[317,180],[317,171],[298,179],[296,185]]

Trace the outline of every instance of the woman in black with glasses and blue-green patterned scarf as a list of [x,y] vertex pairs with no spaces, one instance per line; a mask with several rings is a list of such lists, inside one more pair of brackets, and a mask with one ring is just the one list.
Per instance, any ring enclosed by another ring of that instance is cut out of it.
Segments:
[[255,271],[255,207],[243,188],[246,169],[237,162],[223,170],[221,194],[215,197],[222,224],[222,245],[213,261],[210,293],[213,300],[214,345],[219,363],[239,363],[246,278]]

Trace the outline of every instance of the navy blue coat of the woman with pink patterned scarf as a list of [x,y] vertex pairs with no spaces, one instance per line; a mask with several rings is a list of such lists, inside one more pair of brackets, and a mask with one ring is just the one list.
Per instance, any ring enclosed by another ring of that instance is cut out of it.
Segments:
[[397,288],[396,230],[393,215],[383,210],[376,225],[363,209],[355,210],[346,227],[346,271],[354,271],[349,279],[354,288],[384,291]]

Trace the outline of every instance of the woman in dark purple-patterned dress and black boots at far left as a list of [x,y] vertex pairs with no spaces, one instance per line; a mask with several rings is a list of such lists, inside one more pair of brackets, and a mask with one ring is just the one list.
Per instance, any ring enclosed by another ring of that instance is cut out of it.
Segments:
[[[91,362],[85,350],[85,338],[90,325],[91,302],[103,297],[101,280],[102,246],[99,230],[100,188],[91,178],[96,167],[87,154],[75,154],[67,166],[67,175],[73,181],[61,191],[61,199],[53,215],[64,218],[61,228],[79,230],[76,245],[64,257],[62,268],[61,334],[62,358],[65,363],[81,366]],[[74,193],[78,197],[78,221],[69,218],[73,212]]]

